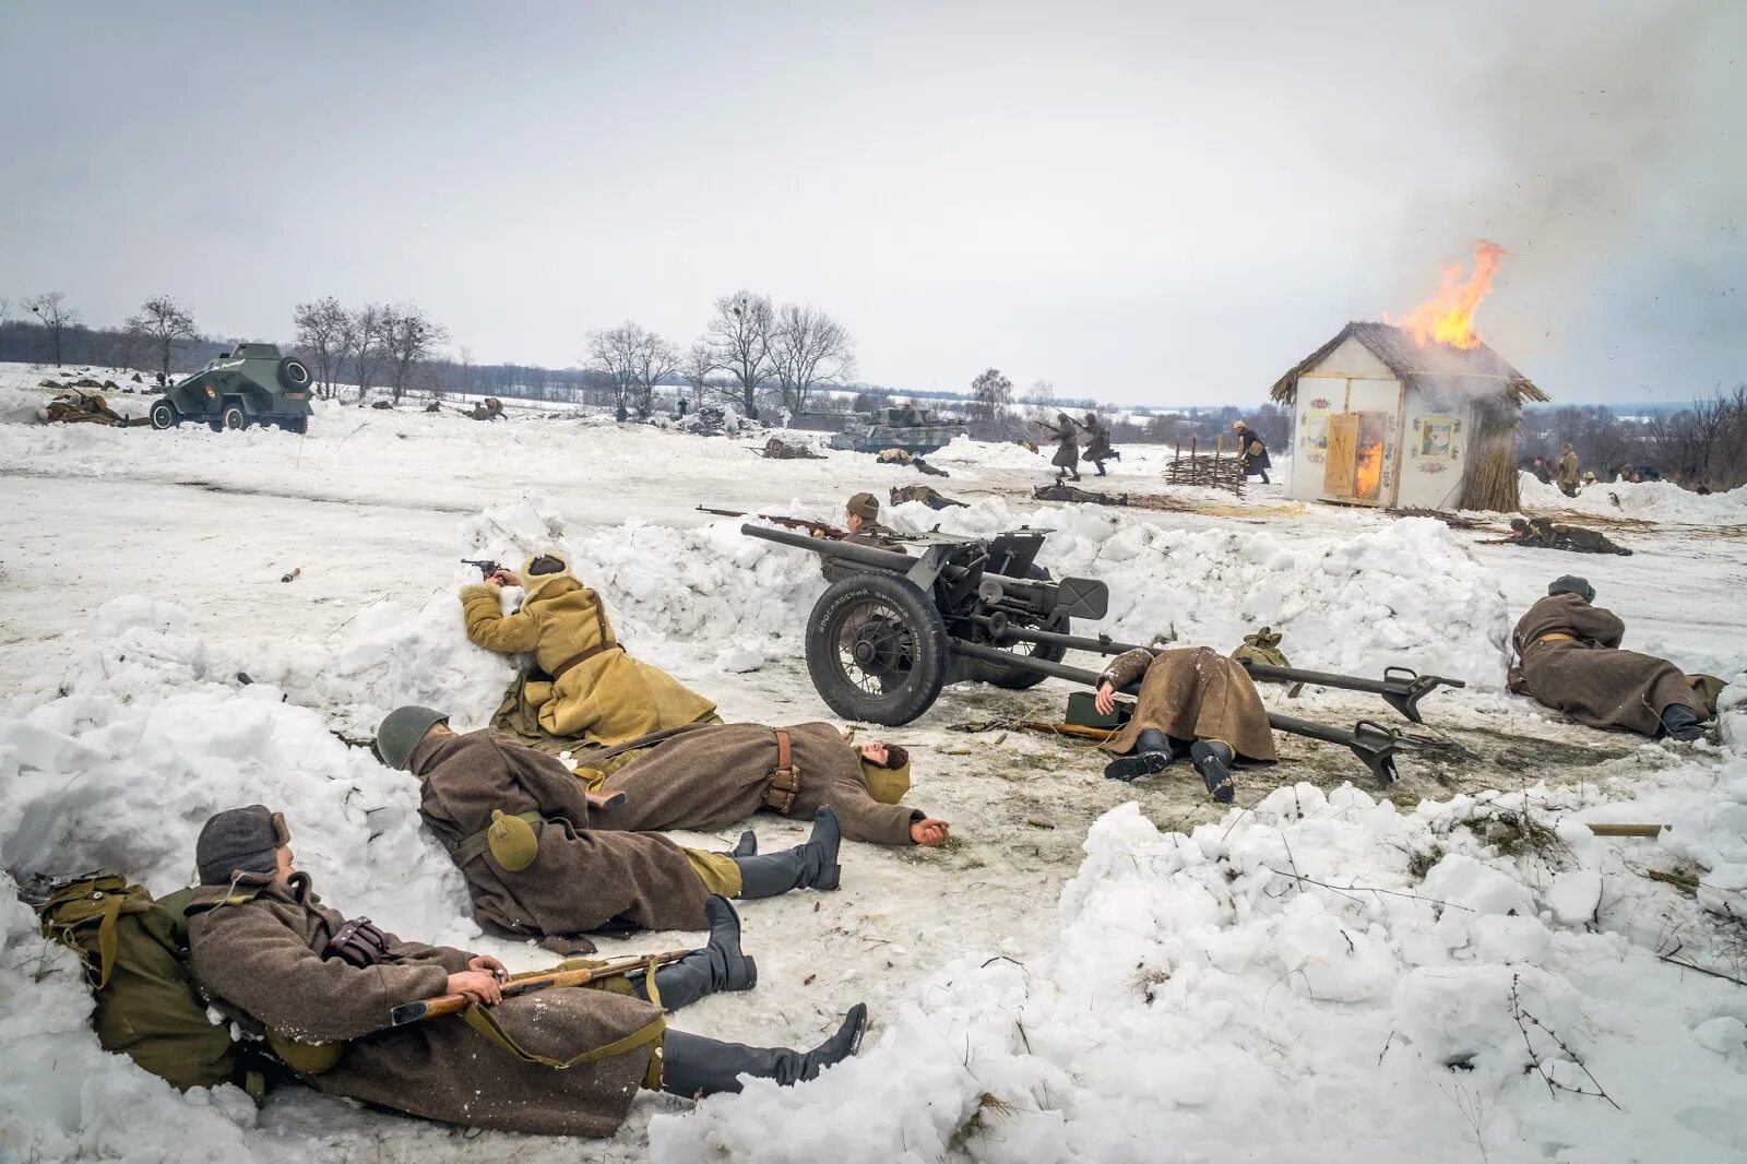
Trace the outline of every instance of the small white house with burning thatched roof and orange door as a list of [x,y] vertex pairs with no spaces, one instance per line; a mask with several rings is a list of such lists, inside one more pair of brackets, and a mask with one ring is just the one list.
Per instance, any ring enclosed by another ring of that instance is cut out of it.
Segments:
[[1546,393],[1478,339],[1349,323],[1274,385],[1293,407],[1291,496],[1513,510],[1516,421]]

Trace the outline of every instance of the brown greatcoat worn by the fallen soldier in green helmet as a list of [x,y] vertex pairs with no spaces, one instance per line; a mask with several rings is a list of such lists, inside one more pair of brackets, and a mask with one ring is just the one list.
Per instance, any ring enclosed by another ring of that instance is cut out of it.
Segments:
[[585,786],[563,760],[487,729],[425,739],[411,769],[419,816],[451,858],[491,825],[491,809],[545,818],[533,825],[540,855],[526,869],[503,869],[489,849],[461,863],[473,919],[487,932],[561,939],[618,918],[648,930],[708,926],[709,890],[685,849],[667,837],[596,832],[603,825],[589,818]]

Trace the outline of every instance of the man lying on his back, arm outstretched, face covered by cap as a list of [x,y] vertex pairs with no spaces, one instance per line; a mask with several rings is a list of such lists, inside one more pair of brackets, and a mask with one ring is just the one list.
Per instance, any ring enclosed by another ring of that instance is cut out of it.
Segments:
[[760,809],[795,820],[832,809],[851,841],[933,848],[950,830],[901,804],[908,752],[851,745],[830,724],[694,724],[577,759],[604,774],[596,792],[625,797],[596,813],[596,828],[720,828]]

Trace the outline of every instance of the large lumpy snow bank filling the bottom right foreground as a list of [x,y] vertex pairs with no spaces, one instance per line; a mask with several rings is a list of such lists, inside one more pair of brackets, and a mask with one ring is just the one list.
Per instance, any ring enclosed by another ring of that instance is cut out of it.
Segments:
[[1490,811],[1298,785],[1183,835],[1122,806],[1046,953],[945,968],[805,1091],[657,1117],[652,1157],[1740,1159],[1740,987],[1609,932],[1653,884],[1616,849],[1511,860],[1462,827]]

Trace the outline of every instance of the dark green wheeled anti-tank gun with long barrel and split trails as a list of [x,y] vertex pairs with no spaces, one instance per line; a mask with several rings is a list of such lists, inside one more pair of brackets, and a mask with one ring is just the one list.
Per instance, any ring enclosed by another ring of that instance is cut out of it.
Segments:
[[[753,524],[741,526],[741,533],[856,566],[826,587],[807,619],[812,685],[847,720],[908,724],[933,706],[942,687],[968,680],[1019,690],[1053,675],[1095,687],[1097,671],[1062,662],[1069,650],[1115,655],[1136,648],[1108,634],[1071,633],[1074,619],[1097,620],[1108,613],[1109,589],[1095,579],[1050,579],[1036,565],[1041,531],[945,542],[917,554]],[[1378,694],[1415,724],[1422,722],[1424,696],[1438,687],[1464,687],[1460,680],[1408,668],[1385,668],[1384,678],[1370,680],[1247,661],[1244,666],[1258,680]],[[1350,748],[1384,785],[1396,779],[1398,750],[1448,748],[1371,720],[1345,729],[1270,711],[1268,724]]]

